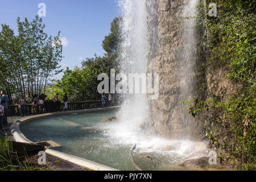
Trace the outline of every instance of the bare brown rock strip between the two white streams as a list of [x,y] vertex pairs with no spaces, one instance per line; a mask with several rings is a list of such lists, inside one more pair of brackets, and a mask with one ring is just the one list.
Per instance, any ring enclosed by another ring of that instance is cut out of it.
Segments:
[[[180,93],[177,85],[177,68],[181,52],[182,1],[159,1],[158,39],[159,51],[154,59],[148,60],[148,70],[159,73],[159,98],[149,101],[151,118],[156,130],[166,137],[179,137],[181,130],[179,122],[172,122],[174,113],[172,105],[177,105],[177,94]],[[149,50],[151,51],[151,50]]]

